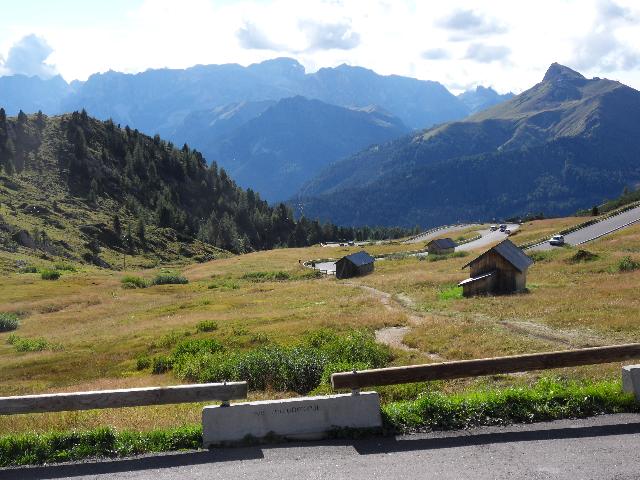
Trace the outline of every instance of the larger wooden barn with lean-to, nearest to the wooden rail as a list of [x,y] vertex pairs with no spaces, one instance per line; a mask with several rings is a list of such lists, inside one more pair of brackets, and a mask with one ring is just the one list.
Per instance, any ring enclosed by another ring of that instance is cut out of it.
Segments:
[[527,287],[527,269],[533,264],[510,240],[504,240],[464,267],[471,278],[460,282],[462,295],[503,295],[522,292]]

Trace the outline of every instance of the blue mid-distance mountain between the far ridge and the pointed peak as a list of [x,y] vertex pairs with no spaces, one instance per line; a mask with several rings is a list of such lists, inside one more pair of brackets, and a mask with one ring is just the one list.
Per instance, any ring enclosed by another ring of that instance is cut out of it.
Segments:
[[[266,106],[251,105],[245,104],[240,112]],[[238,109],[224,109],[228,110]],[[202,151],[241,186],[268,201],[286,200],[330,163],[409,132],[399,119],[379,109],[347,109],[303,97],[280,100],[221,134],[238,116],[226,122],[218,116],[207,130],[210,134],[199,132],[207,138]]]

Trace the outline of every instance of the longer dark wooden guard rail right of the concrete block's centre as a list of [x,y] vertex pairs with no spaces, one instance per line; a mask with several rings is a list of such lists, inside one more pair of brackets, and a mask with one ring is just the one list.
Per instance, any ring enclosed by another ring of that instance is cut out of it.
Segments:
[[400,383],[479,377],[500,373],[577,367],[640,358],[640,343],[609,347],[581,348],[561,352],[533,353],[511,357],[460,360],[428,365],[379,368],[331,375],[334,389],[396,385]]

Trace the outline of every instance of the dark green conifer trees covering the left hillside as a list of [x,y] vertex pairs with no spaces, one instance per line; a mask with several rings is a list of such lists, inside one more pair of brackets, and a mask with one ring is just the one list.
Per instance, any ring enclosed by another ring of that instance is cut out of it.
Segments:
[[[55,145],[55,158],[44,158],[52,153],[40,148],[44,139]],[[7,118],[0,109],[0,169],[14,175],[54,167],[72,195],[96,207],[104,197],[126,206],[138,219],[126,236],[142,245],[149,224],[236,253],[397,238],[416,231],[296,219],[290,206],[271,206],[257,192],[240,188],[223,168],[207,163],[188,145],[178,148],[158,135],[93,119],[84,110],[60,117],[20,112]],[[124,238],[119,219],[113,223]]]

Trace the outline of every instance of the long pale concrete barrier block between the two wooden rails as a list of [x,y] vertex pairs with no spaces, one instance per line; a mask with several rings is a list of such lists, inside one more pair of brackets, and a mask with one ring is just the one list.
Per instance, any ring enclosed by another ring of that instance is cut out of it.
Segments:
[[381,426],[376,392],[236,403],[205,407],[202,411],[205,447],[271,435],[311,440],[323,438],[336,428]]

